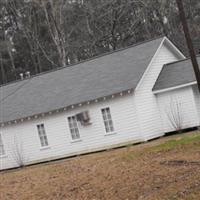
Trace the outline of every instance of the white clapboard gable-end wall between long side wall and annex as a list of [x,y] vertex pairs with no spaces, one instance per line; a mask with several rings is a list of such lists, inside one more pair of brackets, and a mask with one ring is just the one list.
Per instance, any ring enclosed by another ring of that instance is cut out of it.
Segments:
[[177,56],[164,44],[157,51],[149,70],[135,93],[141,132],[145,140],[164,134],[156,96],[152,88],[166,63],[177,61]]

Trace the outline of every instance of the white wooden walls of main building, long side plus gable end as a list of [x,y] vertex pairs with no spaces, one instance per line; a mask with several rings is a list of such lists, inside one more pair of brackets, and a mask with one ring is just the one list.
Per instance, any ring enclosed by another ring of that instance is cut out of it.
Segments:
[[[179,57],[180,58],[180,57]],[[160,114],[157,96],[152,88],[164,64],[178,60],[176,55],[162,44],[154,56],[152,63],[136,88],[134,95],[114,98],[54,114],[48,117],[23,122],[1,128],[6,155],[0,157],[0,169],[17,166],[14,160],[17,137],[26,163],[67,157],[113,145],[146,141],[164,134],[163,116]],[[190,90],[191,92],[191,90]],[[187,92],[186,92],[187,93]],[[163,97],[165,99],[165,97]],[[193,99],[194,103],[194,99]],[[114,133],[105,134],[101,109],[110,107],[114,123]],[[191,108],[192,110],[194,107]],[[89,110],[92,125],[80,128],[81,140],[73,142],[68,127],[67,117],[81,111]],[[45,125],[49,147],[41,148],[37,132],[37,124]]]

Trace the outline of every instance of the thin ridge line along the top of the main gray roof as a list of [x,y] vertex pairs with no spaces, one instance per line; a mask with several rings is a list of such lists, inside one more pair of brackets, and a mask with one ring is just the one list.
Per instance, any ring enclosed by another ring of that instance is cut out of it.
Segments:
[[38,74],[34,74],[34,75],[32,75],[31,77],[29,77],[29,78],[24,78],[23,80],[18,79],[18,80],[15,80],[15,81],[11,81],[11,82],[8,82],[8,83],[5,83],[5,84],[0,85],[0,88],[2,88],[2,87],[4,87],[4,86],[7,86],[7,85],[12,85],[12,84],[15,84],[15,83],[23,82],[23,81],[25,81],[25,80],[32,79],[32,78],[35,78],[35,77],[38,77],[38,76],[42,76],[42,75],[47,74],[47,73],[59,71],[59,70],[65,69],[65,68],[74,67],[74,66],[76,66],[76,65],[79,65],[79,64],[82,64],[82,63],[85,63],[85,62],[88,62],[88,61],[92,61],[92,60],[95,60],[95,59],[97,59],[97,58],[101,58],[101,57],[104,57],[104,56],[107,56],[107,55],[111,55],[111,54],[114,54],[114,53],[116,53],[116,52],[120,52],[120,51],[129,49],[129,48],[133,48],[133,47],[136,47],[136,46],[140,46],[140,45],[142,45],[142,44],[145,44],[145,43],[148,43],[148,42],[152,42],[152,41],[154,41],[154,40],[158,40],[158,39],[164,38],[164,37],[166,37],[166,36],[160,35],[160,36],[158,36],[158,37],[151,38],[151,39],[148,39],[148,40],[144,40],[144,41],[142,41],[142,42],[138,42],[138,43],[132,44],[132,45],[127,46],[127,47],[124,47],[124,48],[122,47],[122,48],[116,49],[116,50],[114,50],[114,51],[102,53],[102,54],[100,54],[100,55],[97,55],[97,56],[94,56],[94,57],[91,57],[91,58],[88,58],[88,59],[79,61],[79,62],[77,62],[77,63],[73,63],[73,64],[70,64],[70,65],[67,65],[67,66],[65,66],[65,67],[59,67],[59,68],[55,68],[55,69],[52,69],[52,70],[47,70],[47,71],[44,71],[44,72],[41,72],[41,73],[38,73]]

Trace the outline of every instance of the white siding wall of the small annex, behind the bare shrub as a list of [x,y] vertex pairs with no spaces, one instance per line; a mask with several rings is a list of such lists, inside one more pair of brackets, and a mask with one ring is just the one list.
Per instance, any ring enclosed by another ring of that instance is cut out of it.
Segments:
[[[192,86],[157,94],[160,114],[165,132],[199,124]],[[175,126],[173,125],[175,124]]]

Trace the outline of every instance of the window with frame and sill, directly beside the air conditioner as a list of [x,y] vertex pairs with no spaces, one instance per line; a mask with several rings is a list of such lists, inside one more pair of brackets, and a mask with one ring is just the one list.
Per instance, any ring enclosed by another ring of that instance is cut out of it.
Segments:
[[80,135],[80,130],[78,126],[78,121],[76,119],[76,115],[68,116],[67,122],[68,122],[68,128],[69,128],[69,132],[71,136],[71,142],[73,143],[73,142],[81,141],[81,135]]

